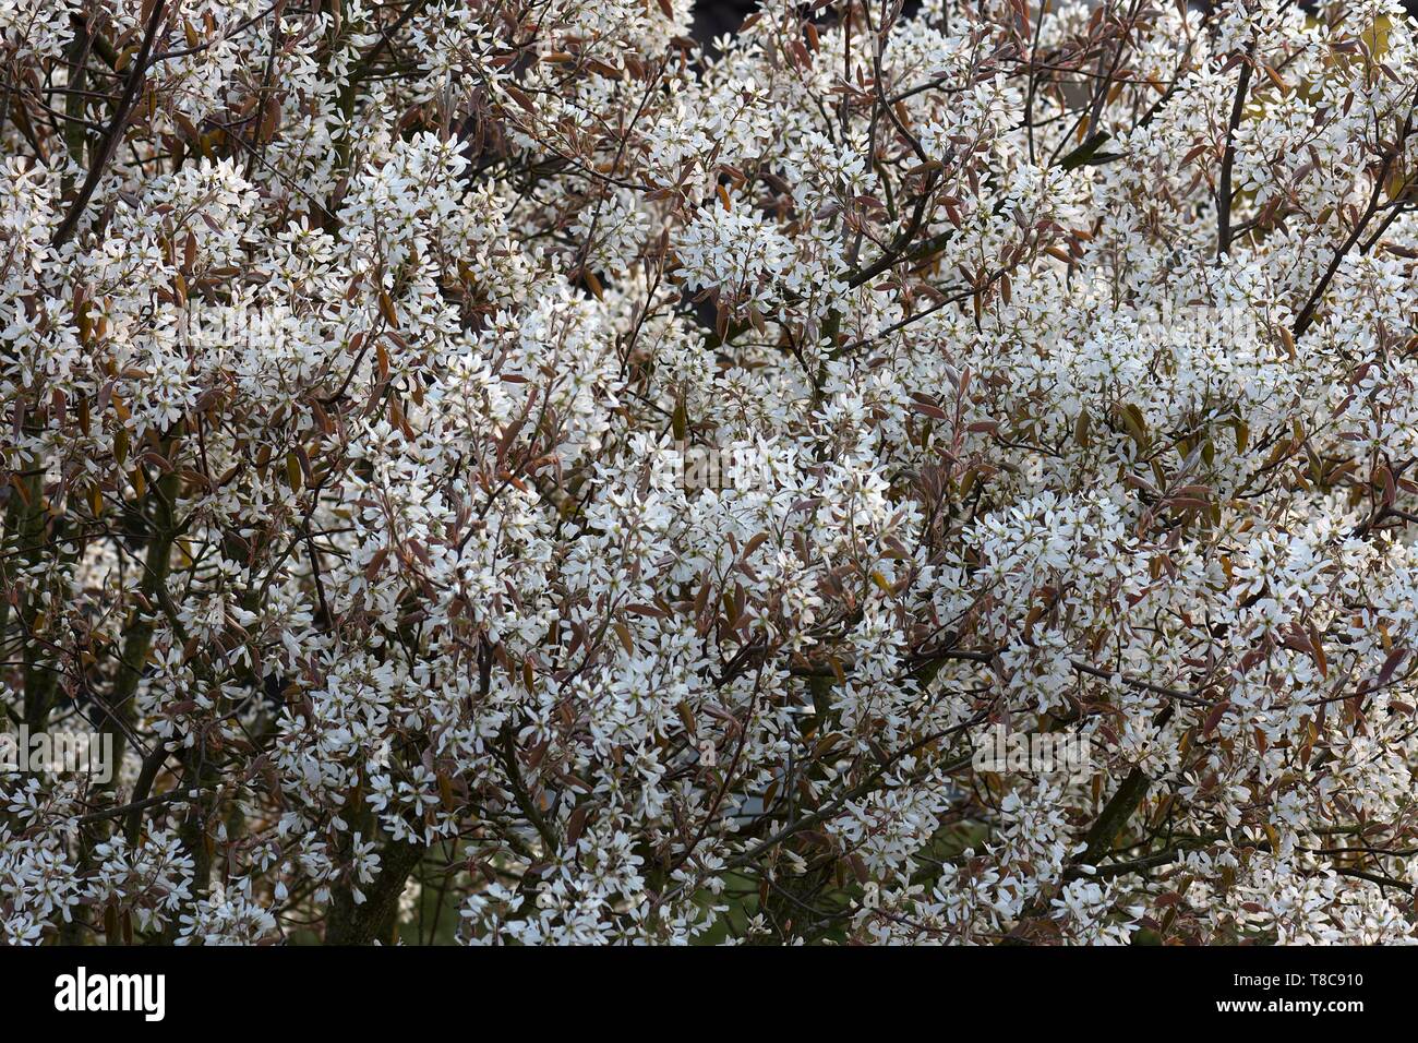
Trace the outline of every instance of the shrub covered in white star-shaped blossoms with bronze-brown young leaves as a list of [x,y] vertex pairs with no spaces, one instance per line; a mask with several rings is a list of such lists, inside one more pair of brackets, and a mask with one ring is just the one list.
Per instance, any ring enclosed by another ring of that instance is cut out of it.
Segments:
[[1412,26],[896,1],[0,3],[4,938],[1414,935]]

